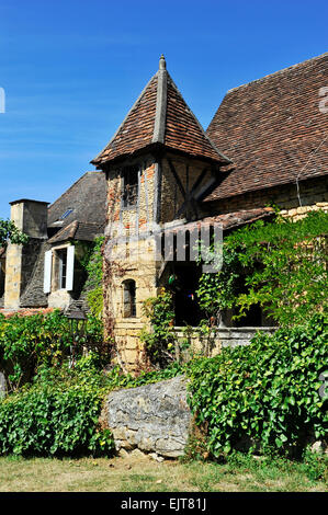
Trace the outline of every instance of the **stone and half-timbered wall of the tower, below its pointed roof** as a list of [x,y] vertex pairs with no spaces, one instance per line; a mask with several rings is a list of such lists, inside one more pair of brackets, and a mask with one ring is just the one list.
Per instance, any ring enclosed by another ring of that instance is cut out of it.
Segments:
[[[207,163],[168,156],[179,175],[182,187],[188,191],[206,168]],[[148,325],[143,313],[143,302],[158,294],[158,275],[161,262],[157,261],[155,241],[147,238],[148,224],[172,221],[174,213],[184,202],[177,181],[170,170],[168,159],[156,161],[151,156],[122,162],[120,167],[108,170],[108,229],[109,243],[104,259],[111,272],[104,273],[105,284],[105,324],[113,328],[116,348],[122,364],[134,370],[140,365],[143,344],[139,332]],[[134,206],[123,207],[122,169],[138,164],[138,199]],[[203,186],[203,184],[202,184]],[[182,215],[181,215],[182,216]],[[113,244],[117,236],[117,222],[124,228],[125,236],[136,236],[136,241]],[[112,245],[112,247],[111,247]],[[111,274],[111,276],[110,276]],[[124,314],[124,282],[134,281],[136,286],[136,314]],[[111,318],[111,320],[110,320]]]

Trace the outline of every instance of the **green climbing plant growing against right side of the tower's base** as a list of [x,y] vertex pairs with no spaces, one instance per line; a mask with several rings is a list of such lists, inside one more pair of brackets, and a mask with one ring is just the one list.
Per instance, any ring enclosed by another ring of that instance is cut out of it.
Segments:
[[172,354],[174,352],[172,294],[161,288],[157,297],[150,297],[144,302],[143,313],[148,318],[151,331],[144,329],[140,340],[145,343],[150,360],[165,366],[168,360],[174,358]]

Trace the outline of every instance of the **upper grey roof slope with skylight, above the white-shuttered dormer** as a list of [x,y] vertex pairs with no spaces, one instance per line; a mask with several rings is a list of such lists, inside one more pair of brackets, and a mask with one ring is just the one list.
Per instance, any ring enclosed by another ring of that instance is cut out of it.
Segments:
[[104,226],[106,180],[103,172],[86,172],[48,207],[48,227],[65,228],[72,221]]

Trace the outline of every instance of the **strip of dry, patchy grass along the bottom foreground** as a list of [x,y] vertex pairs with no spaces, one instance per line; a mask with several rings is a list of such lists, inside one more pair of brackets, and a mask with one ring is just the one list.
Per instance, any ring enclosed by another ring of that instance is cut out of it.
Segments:
[[327,492],[327,458],[239,455],[227,464],[147,457],[0,458],[0,492]]

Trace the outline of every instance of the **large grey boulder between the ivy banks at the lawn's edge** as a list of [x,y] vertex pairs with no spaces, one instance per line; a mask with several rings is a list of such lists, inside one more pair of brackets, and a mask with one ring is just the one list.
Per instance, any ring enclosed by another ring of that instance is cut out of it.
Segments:
[[138,448],[171,458],[183,455],[191,426],[184,376],[113,391],[105,411],[117,450]]

